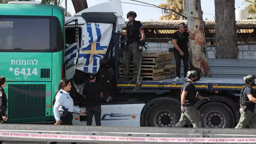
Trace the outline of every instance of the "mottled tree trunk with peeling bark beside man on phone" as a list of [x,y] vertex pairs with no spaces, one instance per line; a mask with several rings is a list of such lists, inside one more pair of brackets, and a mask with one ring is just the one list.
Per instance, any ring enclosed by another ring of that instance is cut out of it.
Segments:
[[195,36],[195,40],[189,40],[190,45],[190,69],[195,69],[201,77],[211,77],[208,65],[207,49],[205,48],[205,24],[200,0],[186,0],[187,26]]

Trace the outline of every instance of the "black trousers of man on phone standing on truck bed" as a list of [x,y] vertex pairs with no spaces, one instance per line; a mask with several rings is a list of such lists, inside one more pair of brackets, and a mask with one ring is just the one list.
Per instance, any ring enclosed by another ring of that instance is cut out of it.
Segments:
[[187,77],[187,71],[189,71],[189,52],[184,53],[183,56],[179,53],[179,51],[173,51],[174,58],[176,61],[176,76],[181,77],[181,59],[184,64],[184,77]]

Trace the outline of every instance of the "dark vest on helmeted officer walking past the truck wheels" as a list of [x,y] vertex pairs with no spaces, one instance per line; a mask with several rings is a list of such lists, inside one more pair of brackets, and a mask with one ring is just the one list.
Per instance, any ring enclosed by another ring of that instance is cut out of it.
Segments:
[[[185,83],[191,83],[191,82],[186,81]],[[183,91],[184,84],[181,87],[181,94],[182,94],[182,91]],[[195,105],[195,100],[196,100],[195,96],[196,96],[196,88],[194,86],[194,87],[192,87],[192,89],[189,89],[188,93],[185,96],[185,105],[194,106]]]

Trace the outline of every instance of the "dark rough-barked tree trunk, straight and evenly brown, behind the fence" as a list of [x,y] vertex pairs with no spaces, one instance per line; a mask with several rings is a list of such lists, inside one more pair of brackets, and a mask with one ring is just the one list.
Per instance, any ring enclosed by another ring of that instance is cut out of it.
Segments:
[[235,0],[214,0],[216,59],[237,59]]

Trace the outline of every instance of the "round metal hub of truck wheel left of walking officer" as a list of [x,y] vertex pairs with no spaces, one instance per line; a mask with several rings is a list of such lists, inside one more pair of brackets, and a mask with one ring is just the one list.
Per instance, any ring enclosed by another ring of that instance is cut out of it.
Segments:
[[155,115],[154,124],[157,127],[172,127],[174,125],[174,117],[169,112],[158,112]]

